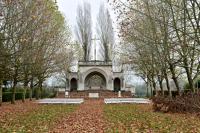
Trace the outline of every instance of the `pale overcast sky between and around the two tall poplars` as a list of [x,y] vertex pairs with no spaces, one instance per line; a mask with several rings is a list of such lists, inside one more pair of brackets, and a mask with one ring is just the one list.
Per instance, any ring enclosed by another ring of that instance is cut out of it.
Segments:
[[[59,7],[59,10],[63,13],[63,15],[66,18],[66,21],[71,27],[71,31],[73,33],[73,38],[76,39],[75,35],[75,25],[76,25],[76,16],[77,16],[77,7],[78,5],[83,5],[83,2],[86,1],[90,3],[91,5],[91,17],[92,17],[92,38],[97,38],[95,32],[96,32],[96,23],[97,23],[97,15],[99,13],[99,7],[101,4],[104,4],[110,11],[111,18],[114,19],[116,18],[113,13],[112,6],[107,3],[107,0],[57,0],[57,4]],[[113,23],[114,31],[116,31],[116,25]],[[116,35],[116,34],[115,34]],[[91,50],[91,59],[92,60],[103,60],[103,57],[99,53],[100,45],[96,45],[99,43],[98,41],[93,41],[92,42],[92,50]],[[96,47],[96,48],[95,48]],[[97,50],[95,50],[97,49]],[[97,52],[95,52],[97,51]],[[95,54],[96,53],[96,54]],[[96,57],[95,57],[96,55]]]

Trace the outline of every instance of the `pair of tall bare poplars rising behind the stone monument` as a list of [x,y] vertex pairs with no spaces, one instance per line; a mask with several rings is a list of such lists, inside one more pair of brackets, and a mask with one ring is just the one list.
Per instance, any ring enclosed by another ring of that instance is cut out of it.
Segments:
[[[99,13],[97,14],[96,34],[92,33],[91,5],[88,2],[79,5],[77,8],[75,32],[77,40],[83,49],[84,55],[82,60],[91,60],[93,39],[94,41],[100,41],[100,44],[97,44],[100,47],[100,51],[98,52],[103,57],[104,61],[107,62],[111,60],[112,48],[114,45],[114,32],[109,10],[104,4],[100,5]],[[97,38],[93,38],[93,35]]]

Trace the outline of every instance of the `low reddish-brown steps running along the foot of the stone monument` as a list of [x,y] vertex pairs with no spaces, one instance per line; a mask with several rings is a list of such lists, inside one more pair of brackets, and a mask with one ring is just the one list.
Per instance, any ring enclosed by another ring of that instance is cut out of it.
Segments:
[[[69,98],[89,98],[89,93],[99,93],[99,98],[117,98],[118,92],[113,92],[110,90],[85,90],[85,91],[72,91],[69,92]],[[57,98],[64,98],[65,93],[59,92]],[[130,91],[122,91],[122,98],[131,98]]]

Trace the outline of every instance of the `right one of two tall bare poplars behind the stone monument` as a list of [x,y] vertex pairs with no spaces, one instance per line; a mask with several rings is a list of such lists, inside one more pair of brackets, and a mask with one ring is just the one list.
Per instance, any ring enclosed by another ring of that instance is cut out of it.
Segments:
[[110,13],[104,4],[101,4],[97,16],[97,35],[103,45],[101,48],[104,49],[104,59],[105,61],[109,61],[112,56],[114,32]]

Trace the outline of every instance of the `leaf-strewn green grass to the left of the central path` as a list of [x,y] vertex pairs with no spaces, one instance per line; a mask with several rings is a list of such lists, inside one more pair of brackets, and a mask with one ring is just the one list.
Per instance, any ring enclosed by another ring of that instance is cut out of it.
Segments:
[[68,116],[75,105],[42,105],[24,115],[9,117],[0,123],[1,133],[44,133],[51,130],[63,116]]

